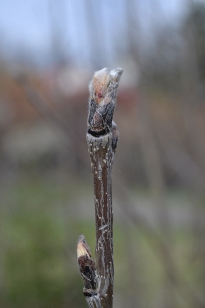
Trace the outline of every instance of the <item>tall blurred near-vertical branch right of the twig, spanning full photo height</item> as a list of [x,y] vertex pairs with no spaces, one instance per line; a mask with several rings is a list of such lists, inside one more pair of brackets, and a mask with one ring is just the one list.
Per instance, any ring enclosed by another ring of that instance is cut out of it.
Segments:
[[[142,152],[142,158],[145,167],[145,173],[147,176],[148,185],[150,186],[152,194],[152,202],[155,207],[156,215],[158,218],[158,227],[160,234],[165,238],[165,242],[171,247],[171,233],[170,233],[170,219],[169,212],[166,204],[166,191],[165,191],[165,179],[163,176],[163,170],[160,162],[159,150],[156,145],[155,136],[153,134],[153,125],[149,111],[149,102],[146,97],[146,66],[145,66],[145,40],[140,35],[140,24],[136,22],[133,9],[135,2],[132,1],[132,6],[128,7],[128,20],[131,20],[132,28],[128,29],[129,45],[131,56],[138,64],[139,74],[141,75],[139,91],[140,99],[137,109],[137,130],[139,134],[139,147]],[[138,16],[140,10],[137,10]],[[138,33],[138,38],[141,44],[137,44],[135,39],[135,32]],[[136,85],[137,86],[137,85]],[[172,250],[172,248],[170,248]],[[175,297],[173,296],[173,285],[176,285],[176,274],[172,266],[170,255],[167,254],[165,249],[160,249],[161,259],[165,267],[165,280],[162,282],[162,302],[159,302],[159,306],[168,307],[175,306]],[[170,283],[173,281],[173,284]]]

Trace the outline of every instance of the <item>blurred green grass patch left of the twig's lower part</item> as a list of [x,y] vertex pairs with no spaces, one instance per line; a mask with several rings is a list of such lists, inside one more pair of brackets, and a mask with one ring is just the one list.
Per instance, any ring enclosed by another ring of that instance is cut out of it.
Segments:
[[[14,189],[14,213],[5,213],[2,219],[6,246],[5,251],[2,247],[5,289],[1,306],[85,306],[75,262],[81,231],[69,219],[68,227],[64,226],[58,213],[62,198],[69,200],[70,191],[29,178],[19,180]],[[66,235],[65,227],[70,229]],[[64,246],[65,236],[72,247]],[[72,260],[67,249],[71,249]]]

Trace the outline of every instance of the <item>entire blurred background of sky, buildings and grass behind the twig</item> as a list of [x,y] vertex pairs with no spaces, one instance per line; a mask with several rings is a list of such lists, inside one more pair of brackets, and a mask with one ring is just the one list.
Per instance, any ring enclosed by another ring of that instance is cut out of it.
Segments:
[[205,2],[0,0],[0,307],[87,307],[88,83],[114,114],[114,307],[205,307]]

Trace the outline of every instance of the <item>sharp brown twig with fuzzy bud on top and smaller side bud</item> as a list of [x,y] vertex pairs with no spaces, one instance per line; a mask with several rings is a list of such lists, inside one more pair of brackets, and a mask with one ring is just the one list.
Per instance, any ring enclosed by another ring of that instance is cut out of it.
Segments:
[[121,68],[94,73],[90,83],[87,142],[94,182],[96,266],[85,237],[77,245],[84,295],[90,308],[112,308],[113,302],[113,212],[111,169],[118,129],[112,121]]

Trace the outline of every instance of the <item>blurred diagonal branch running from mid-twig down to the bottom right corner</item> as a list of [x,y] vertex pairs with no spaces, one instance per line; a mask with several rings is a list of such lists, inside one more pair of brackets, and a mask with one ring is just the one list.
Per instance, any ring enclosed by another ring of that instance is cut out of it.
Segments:
[[[203,295],[198,294],[195,287],[189,283],[178,268],[177,260],[173,257],[172,247],[165,234],[161,233],[161,230],[157,230],[146,217],[137,212],[135,199],[129,191],[126,191],[125,185],[122,183],[118,184],[118,193],[120,198],[119,206],[123,212],[123,217],[126,217],[129,222],[132,222],[142,232],[157,258],[162,260],[162,266],[169,279],[170,287],[175,289],[175,293],[180,295],[186,306],[204,307]],[[137,263],[136,258],[133,259]]]

